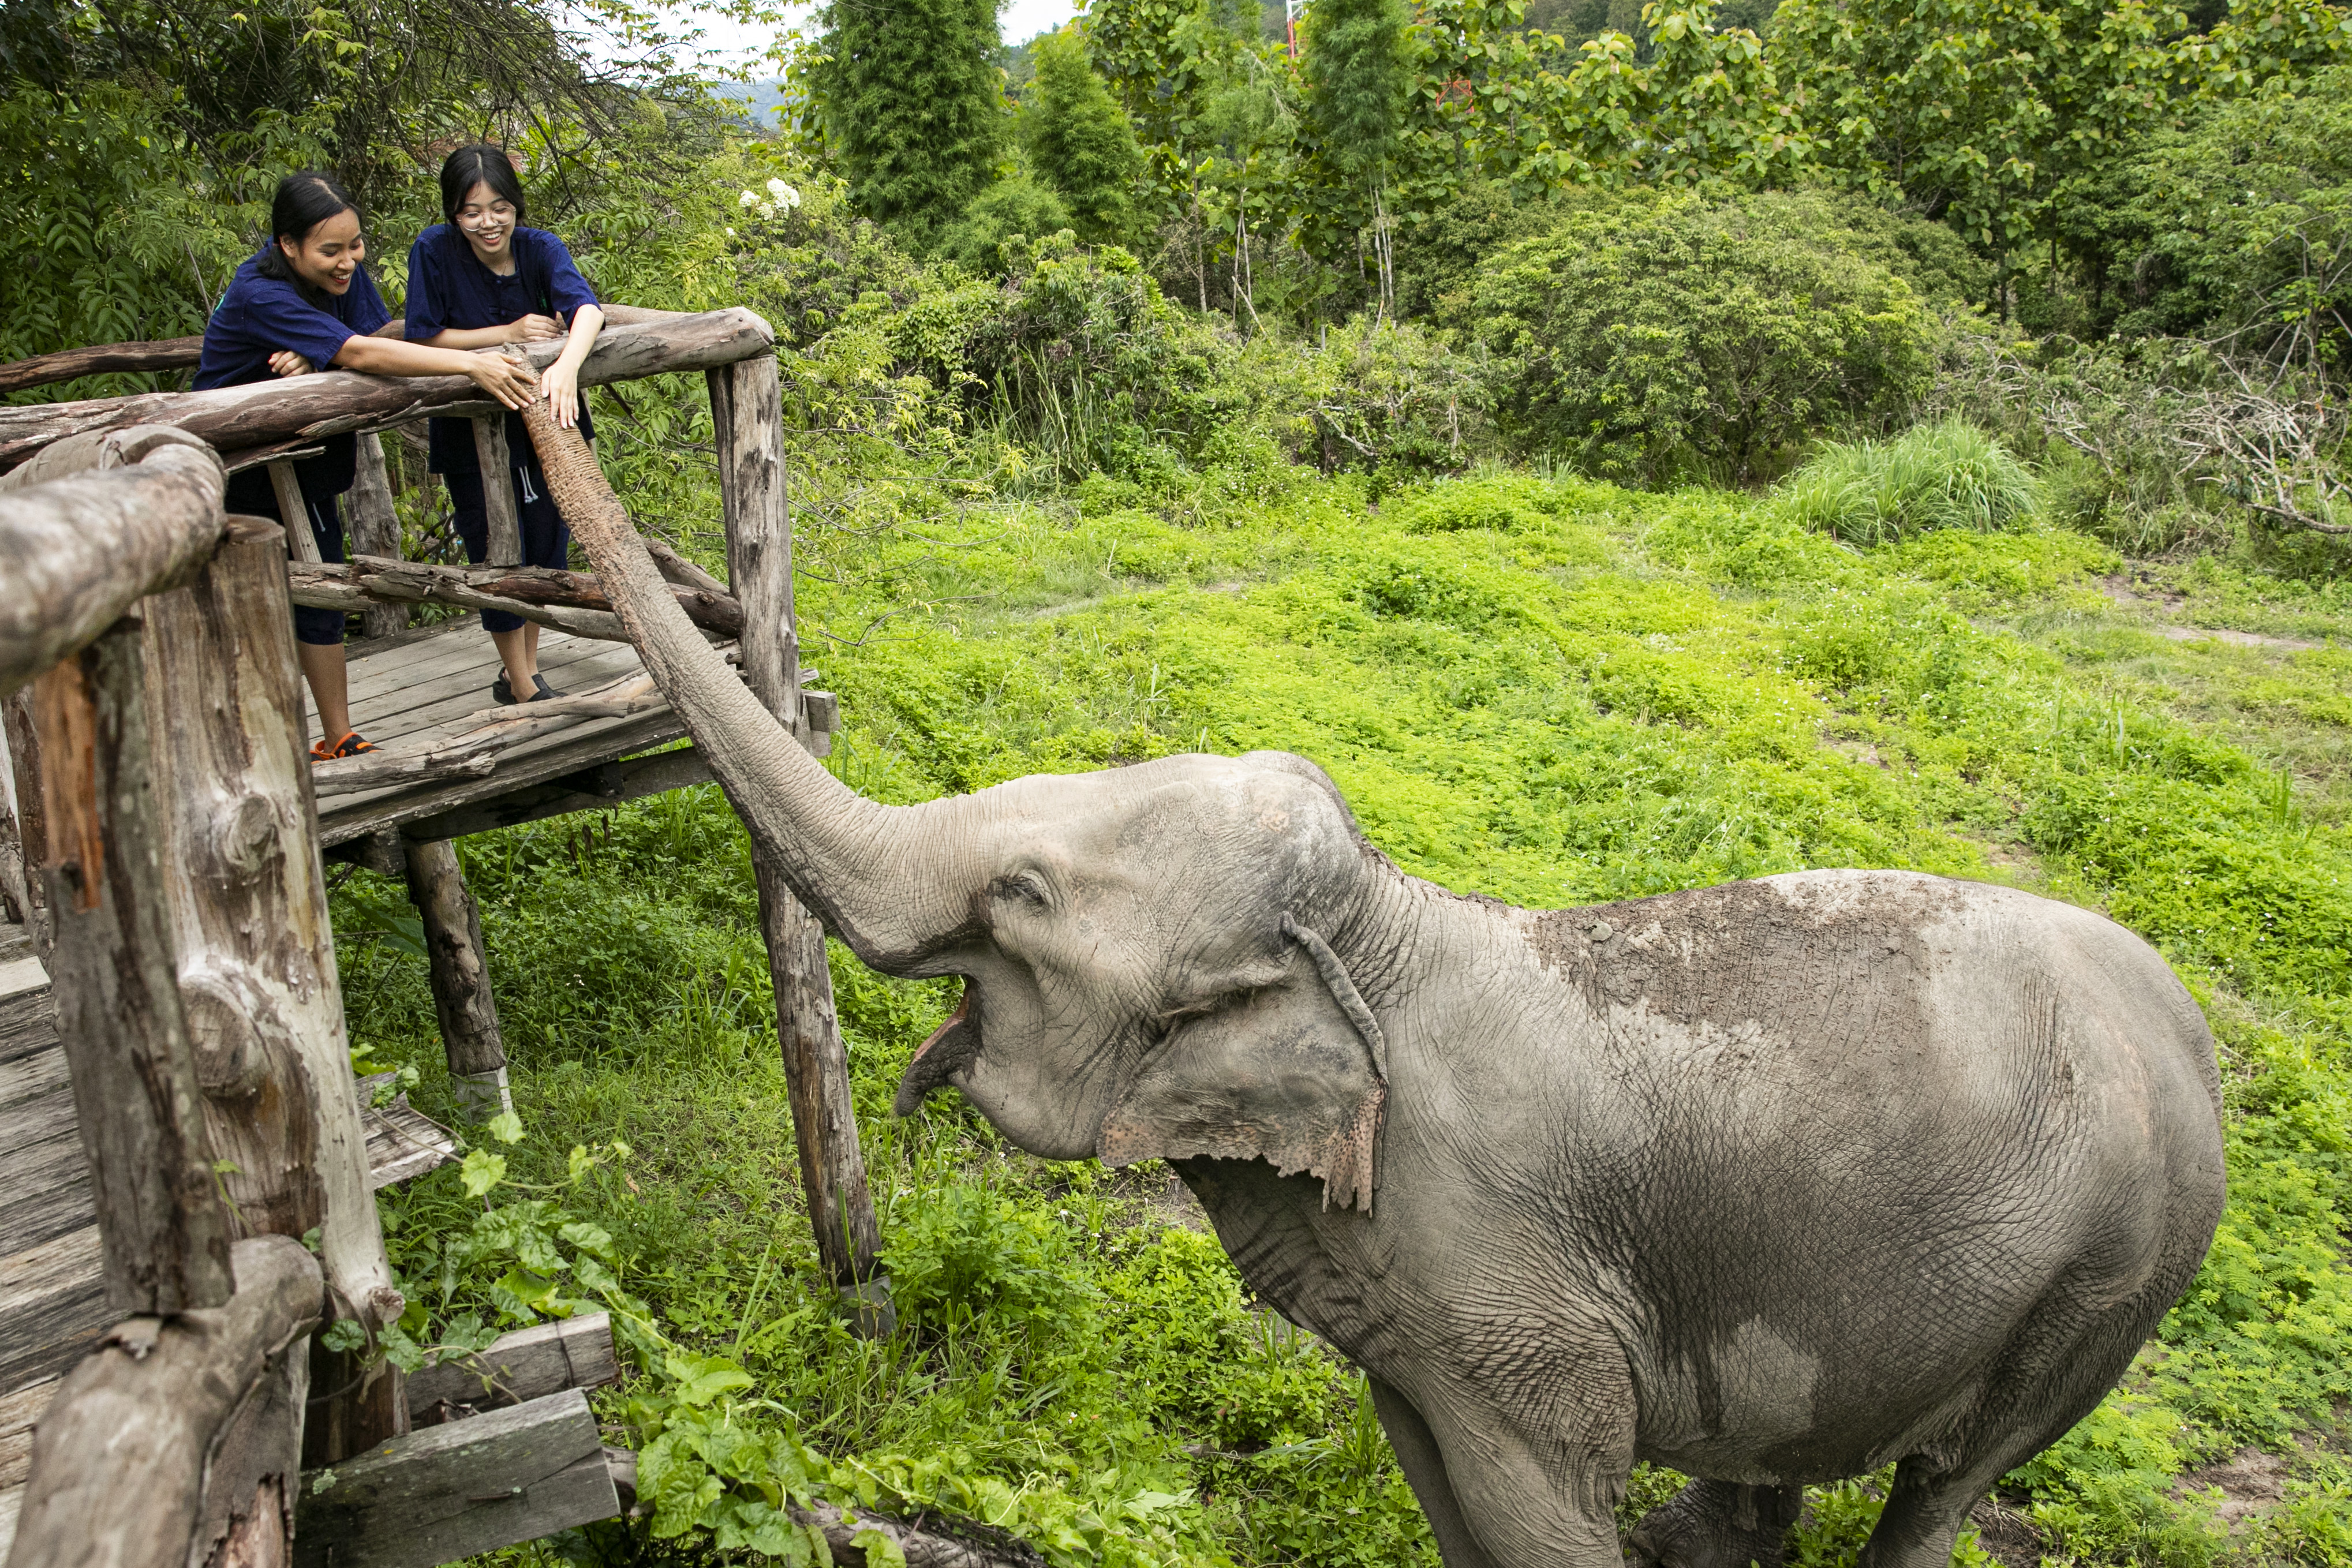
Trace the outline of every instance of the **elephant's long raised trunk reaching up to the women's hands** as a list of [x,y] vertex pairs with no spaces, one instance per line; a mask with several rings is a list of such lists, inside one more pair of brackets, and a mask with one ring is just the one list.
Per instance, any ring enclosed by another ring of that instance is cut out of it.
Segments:
[[877,969],[922,952],[936,938],[927,926],[960,924],[938,879],[903,858],[913,827],[903,818],[934,806],[875,804],[802,750],[687,621],[581,433],[560,428],[536,397],[522,421],[628,639],[793,896]]

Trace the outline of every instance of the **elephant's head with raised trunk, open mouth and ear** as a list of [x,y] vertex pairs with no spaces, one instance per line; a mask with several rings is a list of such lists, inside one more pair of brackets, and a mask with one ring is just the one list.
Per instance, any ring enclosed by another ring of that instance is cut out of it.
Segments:
[[873,969],[964,976],[901,1112],[953,1084],[1033,1154],[1263,1157],[1319,1175],[1327,1206],[1371,1208],[1385,1048],[1334,943],[1395,870],[1319,769],[1192,755],[868,802],[694,630],[579,435],[532,423],[557,505],[762,856]]

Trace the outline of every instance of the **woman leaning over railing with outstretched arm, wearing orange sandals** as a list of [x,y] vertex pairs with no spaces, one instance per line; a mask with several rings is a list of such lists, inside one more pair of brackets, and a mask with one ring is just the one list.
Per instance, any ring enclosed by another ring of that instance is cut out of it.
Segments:
[[[205,324],[205,355],[195,386],[245,386],[270,376],[315,369],[350,369],[374,376],[470,376],[489,397],[520,409],[532,397],[534,376],[499,355],[468,355],[372,336],[388,313],[362,261],[360,209],[332,176],[287,174],[270,202],[270,237],[238,268],[221,306]],[[358,473],[358,442],[329,435],[325,451],[294,463],[306,520],[318,555],[343,559],[343,520],[336,496]],[[278,496],[266,468],[247,468],[228,480],[228,510],[278,515]],[[374,750],[350,726],[350,689],[343,672],[343,611],[294,607],[294,642],[303,679],[318,705],[320,741],[313,762]]]

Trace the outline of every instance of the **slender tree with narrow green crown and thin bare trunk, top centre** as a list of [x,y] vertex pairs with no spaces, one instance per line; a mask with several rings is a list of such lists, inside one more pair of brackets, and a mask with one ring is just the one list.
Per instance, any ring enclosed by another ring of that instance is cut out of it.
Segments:
[[1385,186],[1411,89],[1411,24],[1404,0],[1315,0],[1301,40],[1308,122],[1322,160],[1369,207],[1383,313],[1395,308]]

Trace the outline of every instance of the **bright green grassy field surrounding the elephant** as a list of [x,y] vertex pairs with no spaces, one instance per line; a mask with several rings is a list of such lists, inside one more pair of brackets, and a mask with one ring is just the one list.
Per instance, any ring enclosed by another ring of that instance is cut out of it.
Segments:
[[[2230,1213],[2129,1385],[1959,1556],[2352,1563],[2340,583],[2131,569],[2060,531],[1853,550],[1771,498],[1501,470],[1374,498],[1237,463],[1183,508],[946,489],[854,487],[802,543],[809,661],[847,710],[833,766],[880,799],[1284,748],[1449,889],[1573,905],[1917,867],[2157,943],[2223,1041]],[[1028,1159],[953,1095],[891,1121],[953,987],[837,952],[901,1307],[887,1342],[844,1331],[715,790],[463,856],[522,1128],[386,1201],[414,1338],[644,1307],[644,1375],[607,1415],[649,1455],[654,1519],[532,1552],[802,1561],[776,1507],[823,1490],[1056,1563],[1435,1563],[1362,1382],[1251,1309],[1167,1173]],[[336,914],[365,1056],[445,1110],[400,891],[362,872]],[[1637,1474],[1628,1514],[1675,1486]],[[1795,1561],[1849,1563],[1875,1509],[1867,1481],[1818,1493]]]

